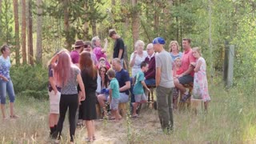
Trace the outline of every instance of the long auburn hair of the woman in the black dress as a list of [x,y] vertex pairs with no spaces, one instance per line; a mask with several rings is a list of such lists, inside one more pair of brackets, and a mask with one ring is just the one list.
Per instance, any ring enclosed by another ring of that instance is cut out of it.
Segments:
[[79,65],[81,71],[84,71],[86,74],[90,75],[91,78],[97,77],[97,70],[94,66],[93,60],[90,58],[90,53],[83,51],[79,57]]

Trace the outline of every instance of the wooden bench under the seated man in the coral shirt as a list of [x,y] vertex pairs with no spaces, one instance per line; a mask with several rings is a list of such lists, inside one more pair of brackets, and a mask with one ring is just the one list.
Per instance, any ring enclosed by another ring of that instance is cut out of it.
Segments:
[[178,109],[179,110],[190,110],[191,105],[191,96],[192,96],[192,90],[193,90],[193,82],[190,82],[189,84],[185,84],[184,87],[186,89],[189,89],[190,98],[186,99],[186,102],[181,102],[183,95],[180,93],[180,97],[178,98]]

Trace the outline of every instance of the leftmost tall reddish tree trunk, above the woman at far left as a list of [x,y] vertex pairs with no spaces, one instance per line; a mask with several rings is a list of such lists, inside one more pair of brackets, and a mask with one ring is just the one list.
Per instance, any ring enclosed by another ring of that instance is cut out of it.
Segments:
[[18,25],[18,0],[14,0],[14,22],[15,22],[15,62],[17,65],[19,62],[19,25]]

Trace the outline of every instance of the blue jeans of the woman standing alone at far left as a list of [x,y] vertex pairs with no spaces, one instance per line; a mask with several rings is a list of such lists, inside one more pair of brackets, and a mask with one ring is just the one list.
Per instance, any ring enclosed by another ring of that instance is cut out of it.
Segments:
[[8,82],[0,79],[0,100],[1,104],[6,104],[6,91],[9,95],[10,102],[14,102],[15,94],[14,94],[14,85],[11,80]]

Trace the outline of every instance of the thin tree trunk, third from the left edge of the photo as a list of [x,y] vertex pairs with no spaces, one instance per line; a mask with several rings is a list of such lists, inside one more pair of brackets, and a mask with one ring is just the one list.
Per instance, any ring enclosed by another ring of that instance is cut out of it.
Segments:
[[34,66],[34,52],[33,52],[33,31],[32,31],[32,0],[29,0],[29,26],[28,26],[28,49],[29,49],[29,62]]

